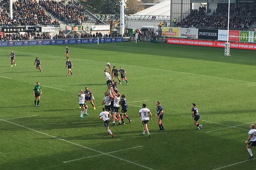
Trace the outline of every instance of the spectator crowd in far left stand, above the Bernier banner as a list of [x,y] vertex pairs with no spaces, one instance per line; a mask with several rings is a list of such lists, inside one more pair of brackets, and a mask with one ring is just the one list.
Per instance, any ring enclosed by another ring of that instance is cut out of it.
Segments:
[[13,19],[9,17],[9,0],[0,0],[0,26],[59,25],[37,1],[17,0],[13,3]]

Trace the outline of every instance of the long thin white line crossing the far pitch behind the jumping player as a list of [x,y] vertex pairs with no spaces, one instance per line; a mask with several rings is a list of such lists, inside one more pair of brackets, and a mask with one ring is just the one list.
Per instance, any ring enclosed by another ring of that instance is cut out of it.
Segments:
[[[0,50],[5,50],[5,49],[0,49]],[[8,50],[5,50],[5,51],[8,51]],[[29,53],[29,52],[25,52],[25,51],[16,51],[16,52],[28,53],[28,54],[39,54],[39,55],[52,56],[52,57],[61,57],[61,56],[53,56],[53,55],[40,54],[40,53]],[[64,57],[61,57],[61,58],[64,58]],[[77,58],[73,58],[73,59],[77,59]],[[83,59],[83,60],[93,61],[93,62],[102,62],[102,61],[96,61],[96,60],[91,60],[91,59]],[[102,63],[105,63],[105,62],[102,62]],[[113,63],[113,64],[127,65],[127,64],[119,64],[119,63]],[[147,69],[150,68],[150,67],[143,67],[140,65],[128,65],[128,66],[147,68]],[[212,77],[212,78],[217,78],[217,79],[226,79],[226,80],[239,81],[239,82],[250,82],[250,81],[239,80],[239,79],[229,79],[229,78],[224,78],[224,77],[208,76],[208,75],[204,75],[204,74],[194,74],[194,73],[187,73],[187,72],[182,72],[182,71],[172,71],[172,70],[165,70],[165,69],[160,69],[160,68],[151,68],[151,69],[160,70],[160,71],[169,71],[169,72],[173,72],[173,73],[189,74],[189,75],[195,75],[195,76]],[[250,82],[250,83],[256,83],[256,82]]]

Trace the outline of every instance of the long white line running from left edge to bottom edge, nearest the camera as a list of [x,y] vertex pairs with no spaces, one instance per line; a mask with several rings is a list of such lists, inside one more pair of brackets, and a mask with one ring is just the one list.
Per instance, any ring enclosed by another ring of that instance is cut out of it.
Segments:
[[23,128],[29,129],[29,130],[32,130],[32,131],[37,132],[37,133],[44,134],[44,135],[46,135],[46,136],[50,136],[50,137],[52,137],[52,138],[55,138],[55,139],[58,139],[58,140],[61,140],[61,141],[64,141],[64,142],[68,142],[68,143],[73,144],[73,145],[76,145],[76,146],[83,147],[83,148],[88,149],[88,150],[93,150],[93,151],[98,152],[98,153],[101,153],[101,154],[103,154],[103,155],[108,155],[108,156],[111,156],[111,157],[113,157],[113,158],[120,159],[120,160],[122,160],[122,161],[126,161],[126,162],[129,162],[129,163],[131,163],[131,164],[135,164],[135,165],[137,165],[137,166],[139,166],[139,167],[144,167],[144,168],[149,169],[149,170],[154,170],[154,169],[152,169],[152,168],[150,168],[150,167],[146,167],[146,166],[144,166],[144,165],[137,164],[137,163],[135,163],[135,162],[128,161],[128,160],[119,158],[119,157],[117,157],[117,156],[110,155],[110,154],[108,154],[108,153],[103,153],[103,152],[101,152],[101,151],[99,151],[99,150],[95,150],[95,149],[93,149],[93,148],[86,147],[86,146],[83,146],[83,145],[78,144],[78,143],[74,143],[74,142],[71,142],[71,141],[67,141],[67,140],[65,140],[65,139],[61,139],[61,138],[58,138],[58,137],[56,137],[56,136],[49,135],[49,134],[44,133],[44,132],[40,132],[40,131],[38,131],[38,130],[34,130],[34,129],[32,129],[32,128],[29,128],[29,127],[26,127],[26,126],[23,126],[23,125],[19,125],[19,124],[17,124],[17,123],[9,122],[8,120],[4,120],[4,119],[0,119],[0,120],[2,120],[2,121],[4,121],[4,122],[11,123],[11,124],[13,124],[13,125],[17,125],[17,126],[20,126],[20,127],[23,127]]

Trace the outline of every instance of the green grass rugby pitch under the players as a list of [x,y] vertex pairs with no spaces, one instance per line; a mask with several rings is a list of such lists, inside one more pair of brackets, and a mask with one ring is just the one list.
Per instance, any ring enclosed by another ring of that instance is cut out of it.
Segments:
[[[231,49],[232,57],[224,57],[223,48],[147,42],[68,47],[72,77],[66,77],[64,45],[0,48],[0,170],[254,167],[254,159],[247,161],[244,142],[250,122],[256,122],[255,51]],[[16,67],[10,67],[11,50]],[[42,72],[35,69],[35,57],[41,59]],[[117,88],[130,102],[128,116],[133,121],[129,124],[125,119],[126,125],[110,127],[113,139],[97,119],[107,87],[106,62],[127,72],[129,85]],[[44,85],[40,108],[34,107],[32,96],[37,81]],[[87,102],[90,116],[80,119],[77,95],[85,86],[93,92],[97,109]],[[158,100],[165,130],[157,133],[153,116],[148,139],[141,136],[138,111],[145,102],[154,115]],[[192,102],[197,104],[203,130],[195,130]],[[13,119],[17,117],[23,118]],[[70,161],[74,159],[80,160]]]

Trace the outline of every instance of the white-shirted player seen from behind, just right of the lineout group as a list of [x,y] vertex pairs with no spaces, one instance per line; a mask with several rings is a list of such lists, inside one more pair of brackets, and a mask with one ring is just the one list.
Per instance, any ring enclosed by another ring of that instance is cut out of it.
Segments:
[[[149,118],[149,115],[150,115],[150,118]],[[150,110],[148,108],[146,108],[146,104],[145,103],[143,103],[142,109],[140,109],[140,111],[139,111],[139,116],[140,116],[141,122],[143,124],[142,135],[144,135],[145,131],[147,131],[148,138],[150,138],[150,133],[148,131],[148,121],[152,120],[152,114],[151,114]]]

